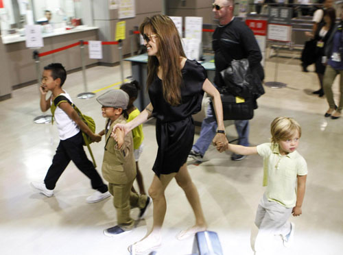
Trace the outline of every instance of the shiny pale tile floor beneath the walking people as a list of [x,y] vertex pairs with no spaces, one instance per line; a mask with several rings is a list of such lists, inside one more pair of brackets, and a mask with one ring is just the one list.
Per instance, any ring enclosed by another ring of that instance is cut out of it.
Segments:
[[[250,121],[250,143],[268,141],[274,117],[294,117],[303,127],[298,151],[307,160],[309,175],[303,215],[292,219],[296,223],[296,242],[284,249],[277,239],[273,254],[339,255],[343,250],[343,119],[324,118],[326,100],[311,95],[318,88],[315,73],[300,72],[295,60],[280,61],[278,81],[287,83],[287,88],[265,88],[259,109]],[[125,64],[127,76],[130,64]],[[265,71],[265,81],[273,81],[272,60],[267,61]],[[87,70],[87,77],[89,90],[103,88],[119,82],[119,66],[93,67]],[[84,92],[82,73],[68,75],[64,88],[83,112],[94,117],[100,130],[104,119],[95,98],[76,98]],[[338,93],[337,81],[334,89]],[[86,204],[86,197],[93,191],[88,179],[72,163],[60,178],[54,197],[40,195],[29,186],[32,180],[43,180],[58,145],[56,127],[32,121],[41,114],[38,101],[37,86],[14,90],[12,99],[0,101],[0,254],[129,254],[128,245],[141,239],[147,226],[152,226],[152,210],[134,232],[111,239],[102,234],[104,228],[115,224],[111,199]],[[140,166],[147,189],[156,156],[154,124],[145,124],[143,131],[145,148]],[[230,139],[235,138],[233,125],[227,127],[227,132]],[[101,171],[104,144],[92,147]],[[218,233],[224,254],[252,254],[250,233],[256,232],[255,210],[264,190],[262,160],[249,156],[232,162],[229,156],[217,153],[211,146],[206,153],[208,161],[198,166],[189,162],[189,171],[198,187],[209,230]],[[176,182],[171,182],[166,196],[163,246],[158,254],[191,254],[192,239],[174,238],[193,223],[191,208]],[[132,216],[137,215],[138,210],[132,210]]]

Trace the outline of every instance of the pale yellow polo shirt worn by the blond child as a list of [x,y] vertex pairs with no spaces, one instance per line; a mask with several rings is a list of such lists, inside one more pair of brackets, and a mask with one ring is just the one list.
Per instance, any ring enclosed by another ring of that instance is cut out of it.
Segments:
[[307,175],[307,164],[298,151],[281,155],[279,145],[263,143],[257,146],[257,153],[263,157],[263,186],[269,201],[275,201],[286,208],[296,205],[297,175]]

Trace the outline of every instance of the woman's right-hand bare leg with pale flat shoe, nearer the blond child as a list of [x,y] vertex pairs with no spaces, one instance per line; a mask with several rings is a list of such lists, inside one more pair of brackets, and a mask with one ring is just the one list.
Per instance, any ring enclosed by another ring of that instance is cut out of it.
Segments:
[[191,208],[193,209],[193,213],[196,217],[196,224],[194,226],[181,231],[176,236],[177,239],[183,240],[193,236],[196,232],[206,230],[207,225],[204,219],[204,213],[202,212],[198,190],[191,180],[191,175],[189,175],[186,163],[182,165],[180,171],[176,174],[175,179],[178,185],[183,189],[183,191],[185,191],[188,202],[191,204]]

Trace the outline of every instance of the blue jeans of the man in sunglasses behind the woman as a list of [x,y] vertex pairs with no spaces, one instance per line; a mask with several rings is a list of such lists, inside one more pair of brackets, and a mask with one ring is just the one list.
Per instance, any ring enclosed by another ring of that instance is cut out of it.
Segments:
[[[235,121],[235,127],[238,134],[238,144],[249,146],[249,121]],[[209,148],[215,134],[217,132],[217,120],[213,116],[212,108],[209,105],[206,112],[206,117],[201,124],[201,131],[198,141],[193,145],[193,151],[204,156],[206,150]]]

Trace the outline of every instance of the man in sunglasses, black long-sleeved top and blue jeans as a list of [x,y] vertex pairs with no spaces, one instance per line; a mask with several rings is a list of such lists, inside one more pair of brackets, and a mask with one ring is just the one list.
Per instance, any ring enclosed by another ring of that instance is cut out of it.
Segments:
[[[215,0],[213,3],[215,19],[219,20],[219,26],[215,29],[212,40],[213,51],[215,51],[214,84],[218,90],[225,86],[220,71],[226,69],[232,60],[247,58],[252,73],[257,75],[261,81],[264,78],[263,68],[260,64],[262,55],[257,40],[251,29],[233,16],[234,4],[233,0]],[[263,88],[261,90],[263,91]],[[255,108],[257,108],[257,104],[255,104]],[[249,146],[249,121],[235,121],[235,127],[238,134],[238,144]],[[202,161],[216,132],[224,132],[224,130],[217,130],[217,122],[211,106],[209,106],[206,118],[202,121],[200,137],[193,145],[189,157]],[[245,157],[244,155],[232,154],[231,160],[242,160]]]

